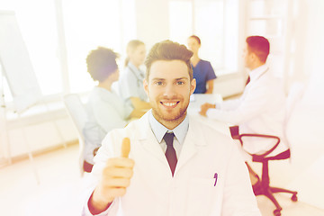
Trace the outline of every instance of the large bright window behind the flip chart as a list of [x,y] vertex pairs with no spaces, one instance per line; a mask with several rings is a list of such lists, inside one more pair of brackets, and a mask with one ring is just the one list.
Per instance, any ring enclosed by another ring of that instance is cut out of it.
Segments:
[[[136,38],[135,0],[0,0],[0,4],[1,10],[16,14],[45,96],[90,90],[94,81],[85,65],[89,51],[104,46],[123,54],[125,44]],[[62,64],[67,71],[62,72]],[[5,101],[13,100],[5,81],[4,94]]]

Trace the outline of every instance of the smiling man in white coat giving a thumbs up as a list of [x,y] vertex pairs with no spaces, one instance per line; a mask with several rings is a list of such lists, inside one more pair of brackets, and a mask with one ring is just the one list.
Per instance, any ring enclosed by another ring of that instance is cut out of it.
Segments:
[[[187,115],[192,55],[170,40],[150,50],[144,88],[152,109],[103,139],[84,215],[261,215],[238,148]],[[129,157],[121,157],[124,138]]]

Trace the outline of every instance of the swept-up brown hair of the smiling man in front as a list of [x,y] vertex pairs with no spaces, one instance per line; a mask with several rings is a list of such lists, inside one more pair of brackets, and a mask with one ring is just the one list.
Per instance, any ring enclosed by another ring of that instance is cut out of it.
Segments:
[[171,40],[163,40],[156,43],[148,52],[148,57],[145,60],[147,67],[146,79],[148,80],[150,67],[157,60],[182,60],[188,67],[190,80],[193,80],[193,67],[190,63],[193,52],[186,49],[184,45]]

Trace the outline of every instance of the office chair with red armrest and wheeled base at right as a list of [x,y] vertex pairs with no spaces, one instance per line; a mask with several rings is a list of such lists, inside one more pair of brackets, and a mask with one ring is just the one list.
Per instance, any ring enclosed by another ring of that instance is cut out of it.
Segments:
[[230,127],[230,134],[233,139],[238,139],[241,146],[244,147],[244,140],[246,138],[260,138],[260,139],[269,139],[274,141],[274,146],[270,149],[268,149],[265,153],[263,154],[248,154],[252,156],[252,161],[253,162],[258,162],[262,163],[262,175],[261,175],[261,180],[257,187],[254,188],[254,193],[256,195],[266,195],[267,198],[269,198],[272,202],[275,204],[275,211],[274,214],[275,216],[280,216],[282,207],[280,204],[276,201],[274,193],[292,193],[292,201],[297,202],[297,192],[295,191],[290,191],[286,190],[284,188],[279,188],[279,187],[273,187],[270,186],[270,177],[269,177],[269,161],[271,160],[283,160],[283,159],[288,159],[291,157],[291,148],[289,146],[289,142],[286,139],[286,129],[288,122],[290,120],[290,117],[293,112],[293,108],[295,106],[295,103],[302,97],[302,92],[303,92],[303,85],[300,83],[295,83],[292,85],[292,88],[288,94],[288,97],[286,98],[286,103],[285,103],[285,118],[284,118],[284,141],[285,143],[288,144],[288,149],[284,150],[281,153],[276,154],[275,156],[269,156],[272,152],[274,152],[275,148],[278,147],[281,139],[276,136],[272,135],[265,135],[265,134],[239,134],[239,129],[238,126],[233,126]]

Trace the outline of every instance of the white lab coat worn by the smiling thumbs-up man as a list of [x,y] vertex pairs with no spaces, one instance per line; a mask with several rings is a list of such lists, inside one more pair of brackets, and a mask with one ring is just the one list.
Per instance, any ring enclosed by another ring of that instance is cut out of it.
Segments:
[[[112,130],[94,157],[97,184],[109,157],[120,157],[121,140],[130,138],[134,175],[127,192],[108,211],[113,216],[260,216],[247,166],[232,140],[189,118],[189,129],[172,177],[166,156],[148,123],[148,113],[123,130]],[[218,174],[215,184],[215,173]],[[93,187],[94,188],[94,187]],[[84,215],[91,215],[85,205]]]

